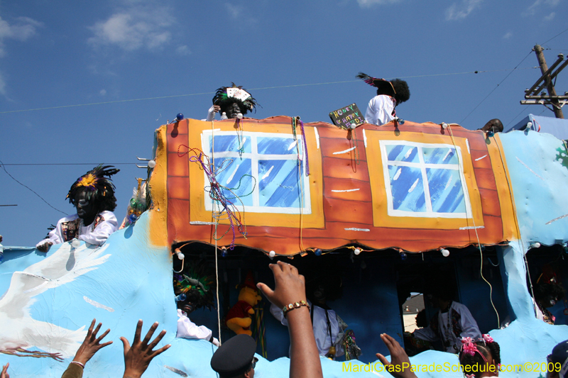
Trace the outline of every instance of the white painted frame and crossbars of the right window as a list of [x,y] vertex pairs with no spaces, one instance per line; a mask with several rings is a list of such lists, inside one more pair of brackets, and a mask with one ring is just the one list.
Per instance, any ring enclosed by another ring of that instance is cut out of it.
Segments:
[[[444,143],[417,143],[411,142],[410,140],[379,140],[379,145],[381,147],[381,157],[383,161],[383,174],[385,178],[385,189],[386,196],[388,200],[388,216],[404,216],[404,217],[416,217],[416,218],[473,218],[471,213],[471,203],[469,200],[469,192],[467,190],[466,180],[464,176],[464,167],[461,164],[463,157],[461,155],[461,148],[458,145],[449,145]],[[403,145],[408,147],[417,148],[417,154],[419,162],[403,162],[399,160],[388,160],[387,146],[388,145]],[[457,154],[457,164],[432,164],[424,162],[424,154],[422,153],[422,148],[452,148],[456,150]],[[391,175],[388,171],[389,165],[395,165],[398,167],[413,167],[418,168],[422,172],[422,185],[424,187],[424,196],[426,203],[426,211],[415,212],[415,211],[404,211],[395,210],[393,208],[393,193],[391,191]],[[461,184],[461,191],[464,193],[464,203],[466,207],[465,213],[437,213],[432,211],[432,200],[430,199],[430,187],[428,185],[428,178],[426,174],[426,168],[434,169],[451,169],[457,170],[459,172],[459,181]]]

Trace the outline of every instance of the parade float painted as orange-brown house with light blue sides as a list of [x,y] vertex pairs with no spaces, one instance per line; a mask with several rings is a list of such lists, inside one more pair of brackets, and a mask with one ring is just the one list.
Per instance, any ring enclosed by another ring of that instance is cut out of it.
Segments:
[[[209,360],[217,347],[175,338],[173,272],[192,260],[212,269],[216,308],[191,319],[223,342],[234,335],[224,318],[236,286],[249,272],[272,285],[268,264],[284,260],[342,280],[331,306],[362,355],[349,371],[322,357],[324,377],[389,377],[376,363],[376,352],[388,355],[378,335],[404,343],[401,305],[435,276],[452,282],[481,332],[498,341],[503,365],[518,366],[501,377],[537,377],[568,339],[564,303],[550,308],[552,326],[537,320],[530,294],[547,264],[568,281],[566,143],[526,127],[493,134],[452,123],[344,125],[278,116],[158,128],[150,206],[131,224],[100,247],[5,248],[0,351],[13,375],[60,377],[97,318],[114,344],[85,374],[116,377],[124,366],[118,339],[131,338],[141,318],[144,331],[159,321],[168,331],[160,345],[172,345],[148,377],[216,377]],[[256,377],[288,377],[288,330],[268,306],[256,305],[251,326]],[[463,376],[450,353],[428,350],[410,361],[449,367],[422,368],[418,377]]]

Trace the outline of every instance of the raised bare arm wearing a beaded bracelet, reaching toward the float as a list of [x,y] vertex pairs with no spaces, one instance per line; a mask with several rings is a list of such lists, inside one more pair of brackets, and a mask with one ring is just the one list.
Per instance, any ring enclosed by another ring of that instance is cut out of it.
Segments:
[[[304,276],[290,264],[278,261],[269,265],[274,274],[275,288],[259,283],[258,289],[279,308],[306,300]],[[294,308],[286,313],[290,333],[290,377],[323,377],[320,353],[317,352],[314,330],[307,306]]]

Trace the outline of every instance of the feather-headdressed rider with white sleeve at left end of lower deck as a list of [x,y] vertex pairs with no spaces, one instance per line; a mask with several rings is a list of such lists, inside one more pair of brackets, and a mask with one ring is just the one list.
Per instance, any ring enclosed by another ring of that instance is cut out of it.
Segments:
[[[178,255],[179,257],[179,255]],[[215,284],[211,276],[205,273],[205,262],[188,264],[181,272],[174,272],[173,287],[178,299],[178,333],[176,338],[206,340],[219,346],[219,340],[213,337],[213,332],[205,326],[193,323],[189,314],[197,308],[214,307],[213,291]]]

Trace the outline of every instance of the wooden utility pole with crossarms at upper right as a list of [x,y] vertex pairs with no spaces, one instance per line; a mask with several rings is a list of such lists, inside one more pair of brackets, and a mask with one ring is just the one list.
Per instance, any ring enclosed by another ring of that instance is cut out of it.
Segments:
[[[559,54],[557,61],[549,68],[546,64],[545,55],[542,53],[542,47],[540,45],[535,45],[532,50],[534,50],[537,55],[538,65],[540,65],[540,72],[542,73],[542,76],[537,80],[537,82],[535,82],[534,85],[532,85],[532,87],[530,87],[530,89],[525,90],[525,101],[520,101],[520,104],[542,104],[545,106],[552,105],[551,110],[554,111],[556,118],[564,118],[564,114],[562,113],[562,106],[564,106],[564,104],[566,104],[566,102],[568,101],[568,92],[564,93],[564,96],[557,96],[555,85],[552,83],[552,79],[555,79],[557,77],[557,74],[568,65],[568,60],[566,60],[564,63],[562,63],[562,65],[558,67],[560,62],[564,60],[564,55]],[[557,68],[556,71],[555,68]],[[542,91],[544,87],[546,87],[548,91],[548,96],[546,96],[545,92]]]

